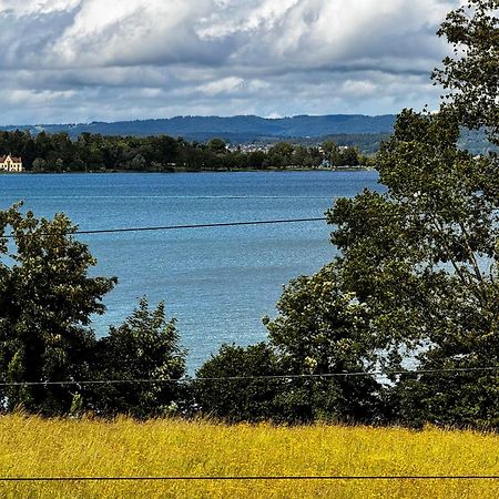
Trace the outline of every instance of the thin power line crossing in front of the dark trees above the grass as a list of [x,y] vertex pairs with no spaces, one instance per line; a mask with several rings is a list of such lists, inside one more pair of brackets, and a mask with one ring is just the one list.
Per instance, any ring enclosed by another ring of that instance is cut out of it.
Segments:
[[244,380],[278,380],[278,379],[317,379],[337,377],[388,377],[403,375],[425,375],[425,374],[459,374],[459,373],[496,373],[497,367],[457,367],[448,369],[419,369],[419,370],[388,370],[388,371],[352,371],[352,373],[324,373],[324,374],[297,374],[297,375],[262,375],[262,376],[224,376],[224,377],[201,377],[201,378],[173,378],[173,379],[94,379],[94,380],[65,380],[65,381],[4,381],[0,387],[17,386],[85,386],[85,385],[142,385],[142,384],[171,384],[192,381],[244,381]]

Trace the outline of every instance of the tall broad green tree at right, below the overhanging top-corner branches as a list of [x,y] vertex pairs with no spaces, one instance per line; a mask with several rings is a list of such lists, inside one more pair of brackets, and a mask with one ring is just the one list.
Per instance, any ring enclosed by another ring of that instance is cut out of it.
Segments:
[[[328,214],[345,286],[370,310],[389,368],[407,359],[422,369],[499,365],[499,170],[460,151],[458,138],[448,108],[404,111],[377,155],[387,191],[342,200]],[[403,377],[394,400],[409,422],[499,420],[498,380]]]

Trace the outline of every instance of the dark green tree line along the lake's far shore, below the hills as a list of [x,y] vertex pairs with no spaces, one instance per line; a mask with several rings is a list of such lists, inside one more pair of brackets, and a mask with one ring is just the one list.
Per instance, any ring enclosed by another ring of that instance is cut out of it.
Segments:
[[207,143],[159,136],[106,136],[82,133],[32,135],[29,131],[0,132],[0,151],[21,156],[31,172],[174,172],[213,170],[317,169],[359,166],[367,157],[355,146],[325,141],[320,146],[278,142],[267,149],[228,149],[222,139]]

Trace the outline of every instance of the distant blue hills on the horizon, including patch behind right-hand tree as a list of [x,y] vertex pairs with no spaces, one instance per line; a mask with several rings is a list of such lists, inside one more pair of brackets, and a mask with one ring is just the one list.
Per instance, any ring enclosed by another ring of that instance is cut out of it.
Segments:
[[[207,142],[218,138],[232,144],[252,142],[276,143],[291,141],[304,145],[318,145],[332,140],[338,145],[356,146],[363,154],[373,154],[381,141],[389,138],[395,114],[367,116],[364,114],[330,114],[324,116],[299,115],[269,119],[259,116],[176,116],[163,120],[135,120],[40,125],[3,125],[0,131],[28,130],[37,135],[67,132],[72,139],[82,133],[113,136],[170,135],[186,141]],[[472,154],[496,150],[483,131],[464,131],[460,146]]]

